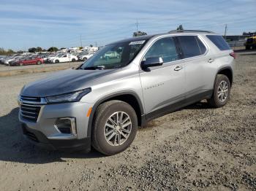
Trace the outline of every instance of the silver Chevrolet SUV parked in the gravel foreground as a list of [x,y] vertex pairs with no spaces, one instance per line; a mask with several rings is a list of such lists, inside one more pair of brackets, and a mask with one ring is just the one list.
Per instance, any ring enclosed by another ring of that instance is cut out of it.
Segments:
[[[115,57],[106,55],[115,52]],[[53,149],[127,149],[138,126],[206,99],[224,106],[236,55],[209,31],[170,31],[108,44],[76,69],[25,85],[23,133]]]

